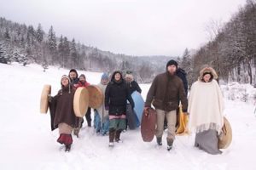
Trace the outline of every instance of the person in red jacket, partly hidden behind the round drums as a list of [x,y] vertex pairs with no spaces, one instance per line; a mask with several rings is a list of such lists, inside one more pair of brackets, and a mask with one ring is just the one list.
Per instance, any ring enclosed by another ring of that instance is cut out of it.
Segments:
[[[81,74],[79,76],[79,82],[77,83],[76,85],[76,88],[87,88],[88,86],[90,86],[90,83],[86,81],[86,77],[84,76],[84,74]],[[88,107],[88,110],[85,114],[85,118],[86,118],[86,122],[87,122],[87,125],[88,127],[91,127],[91,111],[90,111],[90,107]],[[75,128],[73,133],[79,137],[79,131],[80,131],[80,128],[83,126],[83,122],[84,122],[84,119],[83,117],[79,117],[79,127],[78,128]]]

